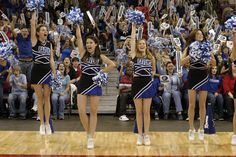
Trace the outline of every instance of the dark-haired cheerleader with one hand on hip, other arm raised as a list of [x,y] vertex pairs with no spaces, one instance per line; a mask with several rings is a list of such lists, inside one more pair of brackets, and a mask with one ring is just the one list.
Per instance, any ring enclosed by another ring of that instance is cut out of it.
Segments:
[[[99,49],[99,41],[94,36],[88,36],[86,39],[85,48],[81,37],[80,27],[76,30],[77,42],[81,56],[81,71],[82,75],[78,83],[77,105],[81,123],[87,132],[87,148],[94,148],[94,132],[97,125],[97,110],[102,95],[102,89],[92,80],[98,72],[107,73],[115,68],[115,64],[101,54]],[[101,64],[106,64],[104,69],[101,69]],[[90,118],[86,114],[86,104],[90,102]]]

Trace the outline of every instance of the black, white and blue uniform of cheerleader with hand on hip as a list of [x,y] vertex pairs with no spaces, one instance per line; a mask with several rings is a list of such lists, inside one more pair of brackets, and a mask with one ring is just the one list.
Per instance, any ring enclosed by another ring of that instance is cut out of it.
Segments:
[[89,57],[85,62],[81,62],[82,75],[78,83],[78,94],[88,96],[101,96],[102,88],[92,80],[101,70],[99,59]]

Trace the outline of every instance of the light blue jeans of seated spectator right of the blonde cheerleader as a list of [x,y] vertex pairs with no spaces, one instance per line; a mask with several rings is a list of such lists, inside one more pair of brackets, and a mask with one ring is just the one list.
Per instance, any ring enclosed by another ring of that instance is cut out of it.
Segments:
[[162,94],[164,113],[169,113],[170,101],[172,97],[174,98],[174,101],[175,101],[176,112],[182,112],[183,108],[182,108],[182,103],[181,103],[180,92],[171,91],[170,93],[170,92],[164,91]]

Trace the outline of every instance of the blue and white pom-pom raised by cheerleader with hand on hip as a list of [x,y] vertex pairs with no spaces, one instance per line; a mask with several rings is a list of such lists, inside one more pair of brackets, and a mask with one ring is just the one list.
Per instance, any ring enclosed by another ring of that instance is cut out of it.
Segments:
[[84,14],[81,12],[80,8],[72,7],[70,12],[67,14],[66,18],[73,22],[74,24],[80,24],[83,22]]

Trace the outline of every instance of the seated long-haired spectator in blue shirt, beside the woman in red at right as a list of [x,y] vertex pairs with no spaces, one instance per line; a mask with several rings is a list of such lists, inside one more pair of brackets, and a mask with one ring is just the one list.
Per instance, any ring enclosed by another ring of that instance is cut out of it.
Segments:
[[221,93],[222,77],[217,74],[217,66],[210,68],[209,90],[207,102],[211,103],[214,119],[224,120],[223,105],[224,99]]

